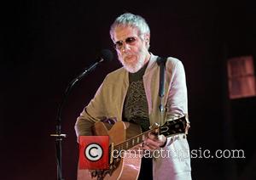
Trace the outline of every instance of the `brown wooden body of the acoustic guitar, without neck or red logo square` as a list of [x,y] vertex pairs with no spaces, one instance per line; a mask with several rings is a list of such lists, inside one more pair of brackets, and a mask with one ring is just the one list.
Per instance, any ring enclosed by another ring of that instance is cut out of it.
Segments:
[[[101,121],[96,122],[93,127],[93,133],[96,136],[109,136],[109,143],[119,144],[124,142],[126,139],[132,138],[137,134],[141,133],[140,127],[129,122],[118,121],[113,127],[110,127],[109,124],[103,123]],[[128,156],[128,157],[127,157]],[[104,180],[131,180],[137,179],[140,166],[141,166],[141,157],[126,155],[122,157],[119,161],[119,165],[113,170],[112,175],[108,173],[103,178]],[[91,177],[90,170],[78,169],[78,180],[87,180],[87,179],[102,179],[97,177]]]

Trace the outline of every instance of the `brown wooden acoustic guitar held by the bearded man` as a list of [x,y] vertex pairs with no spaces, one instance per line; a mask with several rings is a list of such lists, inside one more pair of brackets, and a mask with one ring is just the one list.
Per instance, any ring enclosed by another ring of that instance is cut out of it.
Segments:
[[[92,127],[92,132],[96,136],[109,136],[109,169],[108,170],[87,170],[78,169],[78,180],[131,180],[137,179],[142,155],[128,155],[132,152],[142,152],[142,143],[149,132],[157,132],[166,137],[171,137],[179,133],[185,133],[187,121],[185,116],[172,121],[166,121],[163,126],[154,125],[147,132],[134,123],[118,121],[113,125],[102,121],[96,122]],[[135,149],[135,150],[131,150]],[[125,156],[119,158],[113,152],[125,151]]]

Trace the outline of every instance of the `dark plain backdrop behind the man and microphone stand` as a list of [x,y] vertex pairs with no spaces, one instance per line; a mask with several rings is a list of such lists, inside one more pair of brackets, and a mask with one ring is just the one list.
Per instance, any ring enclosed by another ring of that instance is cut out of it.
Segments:
[[[178,3],[180,2],[180,3]],[[191,160],[200,179],[255,179],[255,97],[230,100],[229,58],[256,56],[253,1],[21,1],[2,5],[1,179],[56,179],[57,107],[75,76],[110,48],[114,18],[141,14],[151,28],[151,52],[181,59],[189,94],[190,149],[243,149],[244,159]],[[254,60],[255,66],[255,60]],[[74,123],[115,59],[74,87],[62,113],[63,177],[75,179]]]

